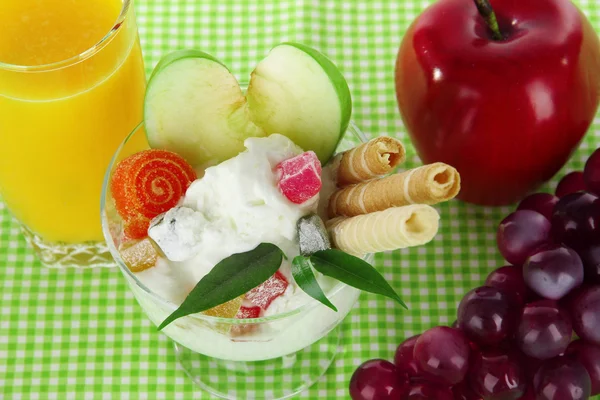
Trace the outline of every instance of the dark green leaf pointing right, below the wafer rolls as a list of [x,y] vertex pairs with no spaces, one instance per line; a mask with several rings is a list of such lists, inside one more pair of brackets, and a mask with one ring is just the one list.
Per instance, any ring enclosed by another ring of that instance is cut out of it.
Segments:
[[310,256],[310,261],[313,267],[323,275],[365,292],[389,297],[407,308],[398,293],[387,283],[379,271],[362,258],[354,257],[341,250],[329,249],[316,252]]

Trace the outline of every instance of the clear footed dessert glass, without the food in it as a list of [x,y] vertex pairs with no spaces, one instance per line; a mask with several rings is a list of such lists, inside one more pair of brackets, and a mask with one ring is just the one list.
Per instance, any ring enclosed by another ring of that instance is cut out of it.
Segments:
[[[117,149],[108,168],[102,189],[102,228],[108,248],[138,303],[159,325],[178,306],[153,293],[125,265],[118,251],[122,219],[114,209],[109,187],[122,152],[142,135],[143,123]],[[364,141],[364,134],[351,122],[338,151]],[[174,341],[184,371],[202,389],[228,399],[283,399],[308,388],[329,368],[341,350],[340,323],[359,294],[358,289],[338,283],[327,293],[337,313],[311,299],[297,309],[262,318],[192,314],[174,321],[163,332]],[[232,328],[251,333],[231,335]]]

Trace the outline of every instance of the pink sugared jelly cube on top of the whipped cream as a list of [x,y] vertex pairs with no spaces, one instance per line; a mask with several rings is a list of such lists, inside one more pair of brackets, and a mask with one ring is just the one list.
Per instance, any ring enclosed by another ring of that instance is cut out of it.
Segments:
[[277,187],[289,201],[302,204],[321,190],[321,162],[307,151],[277,165]]

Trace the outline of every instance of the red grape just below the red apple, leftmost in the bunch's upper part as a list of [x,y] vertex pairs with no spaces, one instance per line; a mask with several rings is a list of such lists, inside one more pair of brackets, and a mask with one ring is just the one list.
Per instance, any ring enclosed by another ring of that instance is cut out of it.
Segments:
[[531,252],[550,240],[550,229],[550,222],[542,214],[515,211],[498,227],[498,249],[509,263],[522,265]]

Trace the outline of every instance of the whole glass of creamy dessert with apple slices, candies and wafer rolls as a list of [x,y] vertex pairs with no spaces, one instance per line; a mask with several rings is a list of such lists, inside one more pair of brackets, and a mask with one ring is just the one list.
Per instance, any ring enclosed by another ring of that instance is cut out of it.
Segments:
[[371,255],[432,240],[430,205],[458,193],[445,164],[389,175],[402,144],[366,142],[350,107],[341,73],[302,45],[275,47],[245,94],[214,58],[176,52],[127,139],[146,134],[153,148],[115,154],[108,246],[183,368],[217,396],[284,398],[314,383],[360,290],[403,304]]

